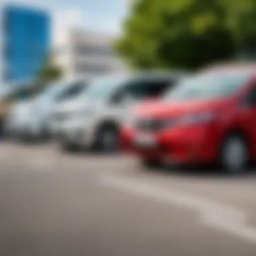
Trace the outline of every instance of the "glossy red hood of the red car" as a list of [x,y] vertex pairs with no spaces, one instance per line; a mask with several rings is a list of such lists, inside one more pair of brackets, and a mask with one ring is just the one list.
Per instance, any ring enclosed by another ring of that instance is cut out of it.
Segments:
[[133,109],[133,113],[139,117],[175,117],[200,111],[218,111],[228,102],[218,100],[193,100],[187,102],[148,102],[140,104]]

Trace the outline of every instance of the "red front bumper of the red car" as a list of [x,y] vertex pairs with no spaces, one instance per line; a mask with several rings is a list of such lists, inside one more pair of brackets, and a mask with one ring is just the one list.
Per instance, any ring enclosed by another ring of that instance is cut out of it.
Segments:
[[[121,146],[125,152],[141,158],[152,158],[166,162],[206,163],[216,160],[218,139],[214,124],[194,127],[177,127],[161,133],[141,133],[124,128],[121,133]],[[152,137],[152,143],[136,143],[143,135]]]

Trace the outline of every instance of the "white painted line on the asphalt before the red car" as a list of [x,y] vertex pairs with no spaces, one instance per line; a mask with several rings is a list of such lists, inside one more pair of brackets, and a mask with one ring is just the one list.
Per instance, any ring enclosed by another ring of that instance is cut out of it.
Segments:
[[99,181],[102,185],[119,191],[194,210],[199,213],[201,224],[256,244],[256,229],[247,225],[249,216],[241,209],[181,191],[163,189],[121,177],[99,177]]

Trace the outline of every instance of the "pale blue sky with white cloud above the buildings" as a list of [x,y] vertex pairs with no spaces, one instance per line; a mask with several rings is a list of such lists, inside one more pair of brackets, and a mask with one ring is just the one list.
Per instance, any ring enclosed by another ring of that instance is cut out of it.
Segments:
[[49,9],[57,33],[70,26],[119,34],[129,0],[0,0]]

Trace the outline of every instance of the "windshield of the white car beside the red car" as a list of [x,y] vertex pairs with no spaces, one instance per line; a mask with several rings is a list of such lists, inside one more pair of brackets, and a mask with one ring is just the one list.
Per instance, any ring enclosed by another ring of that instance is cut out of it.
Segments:
[[117,88],[125,82],[125,77],[108,77],[96,79],[91,82],[88,90],[86,91],[86,100],[88,101],[101,101],[105,100]]

